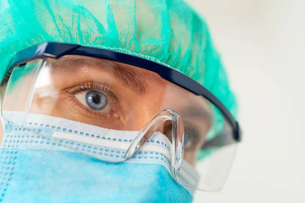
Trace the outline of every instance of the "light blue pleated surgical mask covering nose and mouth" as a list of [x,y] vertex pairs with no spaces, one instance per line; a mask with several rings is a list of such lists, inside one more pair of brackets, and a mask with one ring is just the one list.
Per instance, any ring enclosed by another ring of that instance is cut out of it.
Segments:
[[[115,140],[113,146],[117,146],[112,150],[104,146],[97,149],[75,146],[73,149],[77,150],[72,150],[67,146],[73,142],[51,142],[48,136],[54,132],[57,137],[73,133],[93,139],[94,132],[102,129],[37,114],[29,115],[28,120],[31,122],[23,126],[5,121],[0,150],[3,202],[191,202],[193,199],[192,190],[172,178],[168,158],[156,148],[160,144],[163,151],[170,150],[164,146],[169,141],[161,133],[147,143],[149,150],[141,150],[125,162],[109,163],[81,152],[119,158],[124,153],[120,146],[129,141],[132,132],[108,131],[108,138],[112,133],[111,141]],[[66,128],[61,127],[63,122]]]

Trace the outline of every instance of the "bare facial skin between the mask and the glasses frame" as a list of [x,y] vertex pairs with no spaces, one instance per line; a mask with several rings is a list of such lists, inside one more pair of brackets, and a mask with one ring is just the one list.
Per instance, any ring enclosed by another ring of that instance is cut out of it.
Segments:
[[[23,82],[21,88],[26,88],[26,84]],[[209,105],[203,97],[165,81],[156,73],[132,65],[65,56],[49,61],[36,84],[30,112],[104,128],[140,130],[163,109],[178,112],[189,138],[184,159],[192,165],[196,164],[196,152],[203,145],[211,124]],[[103,93],[108,99],[106,107],[98,111],[90,109],[85,100],[87,91]],[[14,98],[16,95],[13,94],[8,98]],[[182,136],[182,125],[178,127]],[[171,129],[171,122],[166,121],[157,131],[171,140]]]

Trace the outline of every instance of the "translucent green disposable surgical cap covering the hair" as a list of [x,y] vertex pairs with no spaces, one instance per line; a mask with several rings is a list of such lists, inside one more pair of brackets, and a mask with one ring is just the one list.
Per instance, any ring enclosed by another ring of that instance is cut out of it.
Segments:
[[112,49],[186,74],[236,116],[206,23],[181,0],[0,0],[0,11],[0,78],[15,53],[43,42]]

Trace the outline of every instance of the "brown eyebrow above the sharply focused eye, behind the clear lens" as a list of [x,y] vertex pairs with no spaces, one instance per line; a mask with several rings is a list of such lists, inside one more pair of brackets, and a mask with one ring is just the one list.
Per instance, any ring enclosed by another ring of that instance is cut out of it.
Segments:
[[125,87],[131,89],[133,92],[142,95],[146,90],[146,84],[142,77],[138,76],[130,65],[111,61],[101,58],[93,58],[88,56],[64,56],[59,58],[60,61],[88,61],[102,67],[103,69],[110,70],[110,74],[120,81]]

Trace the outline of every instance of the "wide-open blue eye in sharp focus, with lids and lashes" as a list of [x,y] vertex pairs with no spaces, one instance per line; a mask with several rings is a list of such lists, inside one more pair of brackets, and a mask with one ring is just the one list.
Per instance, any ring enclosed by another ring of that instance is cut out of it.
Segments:
[[115,116],[118,103],[115,94],[106,82],[89,82],[74,86],[67,90],[70,94],[72,106],[79,107],[86,115],[107,119]]

